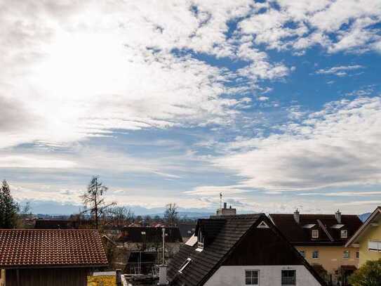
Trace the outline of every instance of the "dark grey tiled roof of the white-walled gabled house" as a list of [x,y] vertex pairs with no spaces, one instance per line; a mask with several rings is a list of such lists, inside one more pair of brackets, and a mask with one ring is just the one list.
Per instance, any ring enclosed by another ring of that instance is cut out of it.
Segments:
[[[203,285],[229,257],[232,257],[230,254],[239,249],[238,245],[245,240],[249,230],[256,229],[256,226],[261,221],[265,221],[274,231],[274,235],[279,237],[283,243],[286,243],[286,246],[288,245],[288,253],[292,254],[297,262],[296,264],[305,265],[316,280],[321,282],[321,285],[325,285],[319,275],[300,256],[298,251],[290,245],[265,214],[213,216],[210,219],[199,219],[196,233],[201,229],[203,235],[206,235],[203,251],[196,251],[197,244],[193,247],[189,245],[180,247],[180,252],[175,255],[168,266],[170,285]],[[208,238],[208,235],[210,235],[210,238]],[[253,242],[250,243],[255,243],[255,237],[253,237]],[[185,268],[185,271],[179,273],[179,269],[188,258],[192,259],[192,261]]]

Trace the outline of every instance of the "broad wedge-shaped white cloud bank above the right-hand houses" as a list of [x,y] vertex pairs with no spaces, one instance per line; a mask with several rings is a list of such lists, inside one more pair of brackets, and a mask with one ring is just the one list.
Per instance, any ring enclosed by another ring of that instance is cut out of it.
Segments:
[[[341,100],[281,134],[229,143],[215,167],[244,177],[241,188],[312,190],[381,183],[381,98]],[[234,152],[234,153],[232,153]],[[208,187],[210,188],[210,187]]]

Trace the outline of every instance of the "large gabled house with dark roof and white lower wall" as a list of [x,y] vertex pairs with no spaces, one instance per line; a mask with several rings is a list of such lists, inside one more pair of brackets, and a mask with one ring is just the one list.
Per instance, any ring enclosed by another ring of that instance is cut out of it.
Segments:
[[173,286],[317,286],[325,282],[265,214],[199,219],[168,265]]

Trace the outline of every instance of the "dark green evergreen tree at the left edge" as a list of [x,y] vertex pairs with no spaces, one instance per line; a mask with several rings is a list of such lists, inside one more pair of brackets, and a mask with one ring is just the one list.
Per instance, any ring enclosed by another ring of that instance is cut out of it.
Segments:
[[0,190],[0,228],[15,228],[18,219],[18,204],[13,200],[6,180]]

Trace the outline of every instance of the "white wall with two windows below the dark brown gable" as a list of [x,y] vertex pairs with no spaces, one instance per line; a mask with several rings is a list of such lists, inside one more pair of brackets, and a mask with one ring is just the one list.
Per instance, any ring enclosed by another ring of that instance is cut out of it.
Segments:
[[295,270],[297,286],[321,286],[303,265],[295,266],[221,266],[205,286],[245,286],[245,271],[260,271],[260,286],[281,286],[281,271]]

